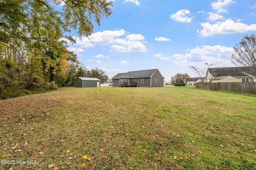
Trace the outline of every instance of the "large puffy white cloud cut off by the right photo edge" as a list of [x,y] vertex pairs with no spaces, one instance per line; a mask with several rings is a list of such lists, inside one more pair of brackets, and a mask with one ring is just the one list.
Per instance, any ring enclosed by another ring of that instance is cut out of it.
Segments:
[[234,22],[230,19],[210,24],[208,22],[201,23],[202,30],[197,31],[201,36],[208,37],[215,34],[232,34],[243,33],[247,31],[256,31],[256,24],[246,25],[245,23]]

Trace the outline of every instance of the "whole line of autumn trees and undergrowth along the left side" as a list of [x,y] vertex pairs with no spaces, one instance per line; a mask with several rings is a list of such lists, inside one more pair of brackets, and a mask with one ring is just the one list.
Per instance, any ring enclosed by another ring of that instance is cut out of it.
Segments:
[[[54,5],[53,5],[54,4]],[[62,6],[62,11],[54,6]],[[105,0],[1,0],[0,98],[74,85],[76,76],[107,76],[98,68],[79,69],[77,55],[68,51],[68,35],[90,36],[94,24],[108,18],[112,2]]]

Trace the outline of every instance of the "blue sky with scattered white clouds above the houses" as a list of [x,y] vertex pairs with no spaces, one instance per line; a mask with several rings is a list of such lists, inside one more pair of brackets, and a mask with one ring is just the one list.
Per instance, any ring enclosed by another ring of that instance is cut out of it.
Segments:
[[165,80],[196,74],[188,66],[234,66],[233,47],[256,32],[256,0],[112,0],[113,14],[69,50],[89,70],[111,78],[120,72],[158,68]]

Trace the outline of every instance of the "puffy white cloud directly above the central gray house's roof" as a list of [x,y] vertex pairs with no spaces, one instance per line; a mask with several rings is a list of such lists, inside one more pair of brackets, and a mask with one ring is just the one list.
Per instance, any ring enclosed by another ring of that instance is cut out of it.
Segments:
[[140,41],[129,41],[128,39],[115,39],[115,43],[111,46],[111,49],[119,52],[145,52],[147,51],[146,46]]

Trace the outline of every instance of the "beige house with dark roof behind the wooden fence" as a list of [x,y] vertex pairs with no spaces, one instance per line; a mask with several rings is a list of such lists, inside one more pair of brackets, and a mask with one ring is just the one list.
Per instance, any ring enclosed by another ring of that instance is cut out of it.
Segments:
[[254,82],[255,77],[248,67],[208,68],[205,82]]

